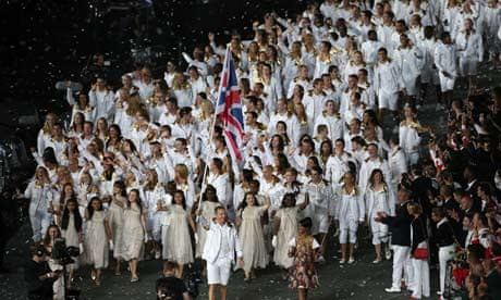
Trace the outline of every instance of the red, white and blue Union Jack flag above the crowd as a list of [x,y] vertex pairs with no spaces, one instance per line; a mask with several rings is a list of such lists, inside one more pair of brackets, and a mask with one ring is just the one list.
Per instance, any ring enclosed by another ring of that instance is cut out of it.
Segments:
[[230,155],[240,165],[243,162],[241,149],[244,136],[244,115],[242,112],[235,64],[229,47],[227,48],[221,84],[219,86],[216,114],[223,124],[223,135]]

